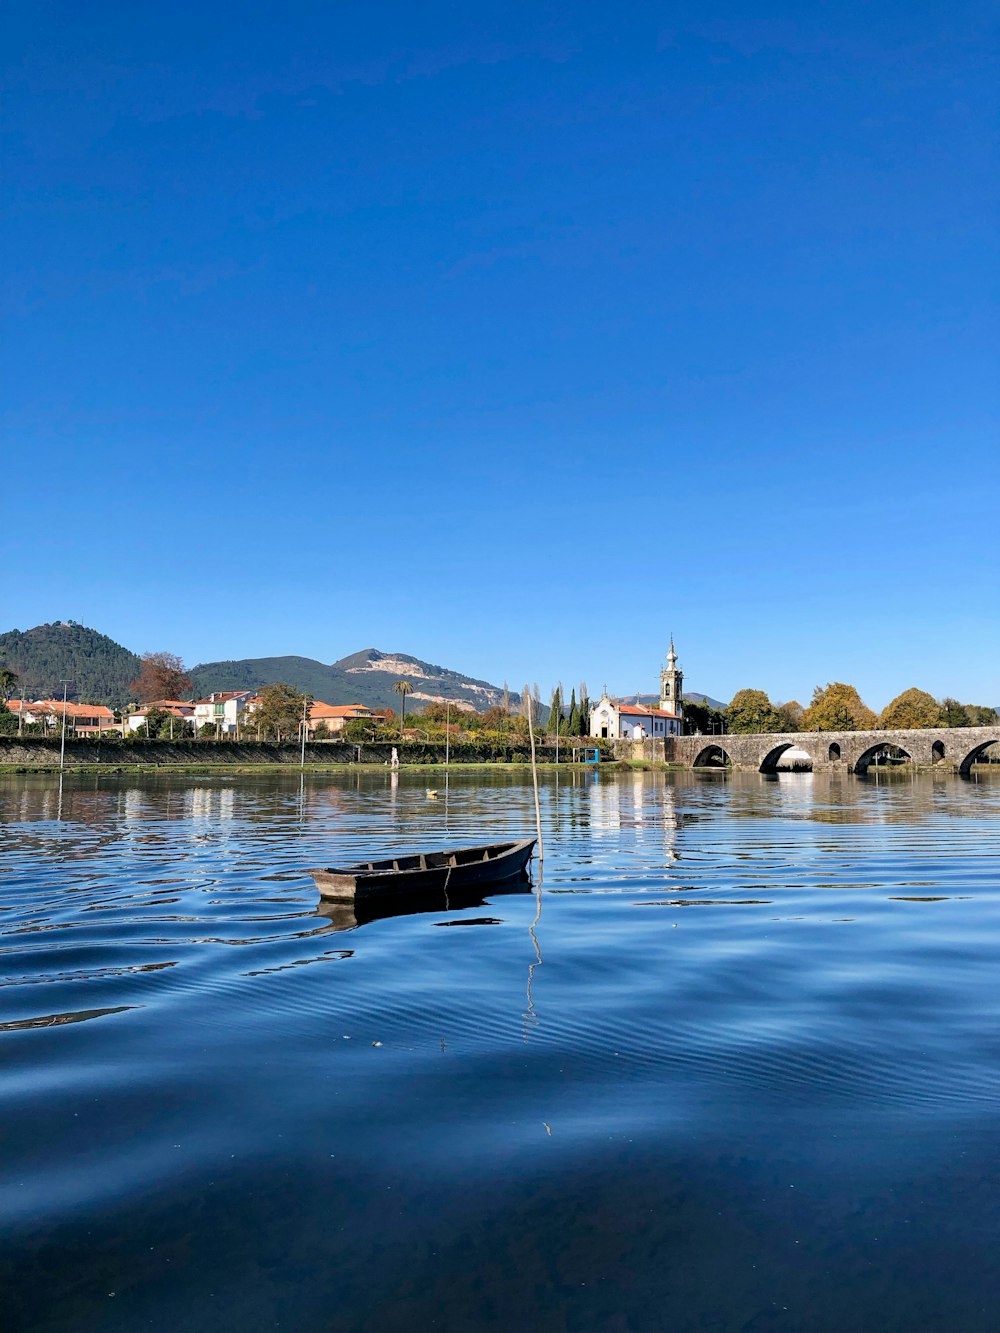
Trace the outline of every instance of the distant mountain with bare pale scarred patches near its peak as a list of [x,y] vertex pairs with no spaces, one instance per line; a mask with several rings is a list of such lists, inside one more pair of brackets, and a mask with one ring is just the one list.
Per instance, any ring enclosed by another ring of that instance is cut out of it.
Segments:
[[[367,704],[368,708],[395,708],[400,697],[393,690],[397,680],[413,686],[407,696],[408,708],[421,708],[437,701],[452,702],[483,712],[499,704],[503,689],[485,680],[475,680],[447,666],[435,666],[408,653],[383,653],[364,648],[331,665],[313,657],[244,657],[239,661],[201,663],[191,670],[199,694],[216,689],[260,689],[284,681],[327,704]],[[511,694],[517,702],[519,694]]]

